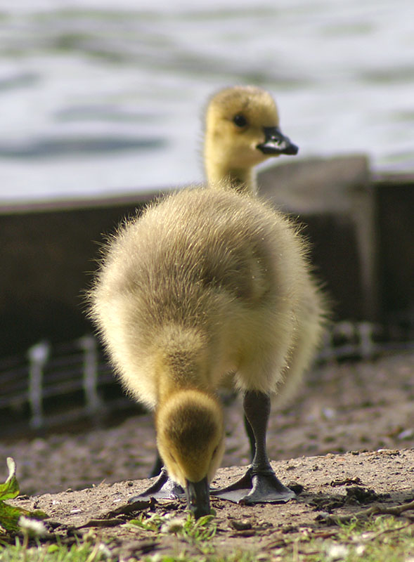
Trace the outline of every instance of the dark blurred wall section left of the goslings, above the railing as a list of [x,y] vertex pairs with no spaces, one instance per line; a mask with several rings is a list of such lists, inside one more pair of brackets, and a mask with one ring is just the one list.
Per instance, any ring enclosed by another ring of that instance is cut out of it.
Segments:
[[127,199],[3,209],[0,356],[91,330],[82,293],[96,269],[103,233],[140,206]]

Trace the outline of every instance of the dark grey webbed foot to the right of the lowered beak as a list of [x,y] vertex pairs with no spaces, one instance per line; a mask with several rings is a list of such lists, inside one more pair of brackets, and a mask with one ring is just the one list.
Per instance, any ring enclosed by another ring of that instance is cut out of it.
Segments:
[[243,505],[253,505],[260,503],[285,503],[296,497],[290,488],[286,488],[273,470],[253,472],[250,467],[242,478],[235,483],[211,490],[211,495],[221,497]]

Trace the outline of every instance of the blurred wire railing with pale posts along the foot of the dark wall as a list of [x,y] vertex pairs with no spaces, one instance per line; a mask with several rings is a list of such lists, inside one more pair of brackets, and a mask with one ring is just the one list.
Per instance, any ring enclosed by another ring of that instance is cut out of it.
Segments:
[[[413,334],[402,329],[338,322],[327,332],[316,362],[370,360],[409,350],[414,350]],[[41,341],[26,354],[0,359],[3,435],[53,429],[70,421],[99,421],[127,407],[136,405],[120,390],[94,336],[56,345]]]

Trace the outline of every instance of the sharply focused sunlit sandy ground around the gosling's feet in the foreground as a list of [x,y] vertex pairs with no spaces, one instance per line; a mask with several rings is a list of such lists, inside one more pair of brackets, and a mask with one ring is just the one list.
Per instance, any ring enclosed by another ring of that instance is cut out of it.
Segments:
[[[355,514],[373,505],[387,509],[414,499],[414,450],[330,453],[273,462],[273,469],[285,483],[293,488],[303,486],[303,491],[287,504],[241,506],[213,497],[216,535],[207,548],[220,554],[250,551],[260,554],[263,560],[275,560],[280,549],[295,549],[295,545],[306,554],[310,537],[320,542],[318,549],[323,549],[323,541],[337,536],[337,525],[327,518]],[[226,485],[242,473],[240,467],[220,469],[213,484]],[[147,518],[158,514],[175,525],[177,520],[186,518],[183,500],[144,501],[135,504],[135,511],[131,512],[128,499],[147,485],[148,481],[143,480],[102,483],[75,492],[69,489],[55,495],[23,495],[11,503],[45,511],[50,517],[46,523],[51,532],[49,540],[56,540],[56,535],[69,544],[82,536],[93,542],[105,539],[108,549],[120,561],[141,560],[144,554],[155,553],[185,553],[191,559],[205,554],[200,551],[202,545],[180,535],[169,535],[163,529],[164,532],[141,529],[129,523],[141,514]],[[412,528],[414,502],[404,515]],[[315,546],[313,542],[313,549]]]

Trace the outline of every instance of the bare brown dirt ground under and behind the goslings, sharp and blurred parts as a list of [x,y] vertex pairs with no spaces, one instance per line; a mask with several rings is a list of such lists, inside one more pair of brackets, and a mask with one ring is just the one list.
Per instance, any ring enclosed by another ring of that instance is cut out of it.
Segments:
[[[231,468],[219,470],[214,485],[237,478],[249,462],[239,400],[225,410],[223,466]],[[7,476],[6,457],[11,456],[22,492],[13,502],[46,511],[51,528],[63,534],[93,528],[98,535],[112,537],[112,547],[122,559],[144,552],[174,554],[183,546],[179,537],[174,542],[167,535],[131,528],[123,525],[131,514],[111,513],[148,486],[138,479],[148,476],[154,444],[150,416],[82,435],[0,443],[0,481]],[[309,528],[321,537],[330,536],[336,531],[317,521],[318,514],[351,513],[372,502],[390,506],[412,501],[414,353],[313,370],[292,405],[273,409],[268,444],[280,480],[304,490],[281,505],[242,507],[212,498],[218,525],[213,544],[223,552],[271,551],[283,545],[289,533],[303,535]],[[184,507],[178,501],[142,506],[174,515],[182,515]],[[98,518],[109,523],[83,527]]]

